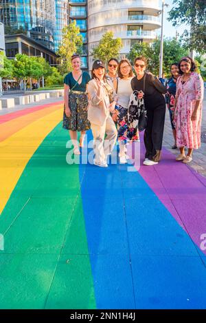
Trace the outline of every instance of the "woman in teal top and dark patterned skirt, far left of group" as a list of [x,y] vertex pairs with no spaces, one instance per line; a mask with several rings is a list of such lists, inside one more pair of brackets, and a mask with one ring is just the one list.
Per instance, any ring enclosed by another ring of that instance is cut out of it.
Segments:
[[87,83],[91,78],[87,72],[82,72],[80,56],[78,54],[73,54],[71,64],[73,70],[65,76],[64,80],[65,107],[63,128],[69,130],[73,143],[73,153],[80,155],[77,132],[81,132],[80,147],[83,147],[86,130],[90,129],[90,123],[87,119]]

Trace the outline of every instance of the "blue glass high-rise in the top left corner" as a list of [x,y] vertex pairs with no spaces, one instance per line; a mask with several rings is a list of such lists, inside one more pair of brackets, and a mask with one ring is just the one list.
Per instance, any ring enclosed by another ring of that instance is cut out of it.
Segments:
[[0,21],[54,50],[55,0],[0,0]]

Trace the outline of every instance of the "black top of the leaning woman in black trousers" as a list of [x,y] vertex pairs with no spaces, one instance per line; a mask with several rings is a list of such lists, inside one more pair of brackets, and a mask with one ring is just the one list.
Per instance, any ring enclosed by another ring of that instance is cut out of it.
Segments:
[[166,87],[158,80],[155,79],[155,76],[146,73],[145,80],[145,91],[144,91],[144,77],[140,80],[137,80],[135,76],[131,80],[131,86],[133,91],[143,91],[144,92],[144,101],[146,105],[146,109],[150,109],[150,107],[154,107],[157,105],[165,105],[165,99],[162,94],[167,92]]

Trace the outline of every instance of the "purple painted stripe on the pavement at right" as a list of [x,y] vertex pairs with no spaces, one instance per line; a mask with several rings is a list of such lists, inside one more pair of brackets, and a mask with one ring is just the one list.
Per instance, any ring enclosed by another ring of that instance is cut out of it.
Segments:
[[[206,241],[205,244],[201,244],[204,233],[206,236],[206,178],[197,174],[191,167],[176,162],[175,156],[164,148],[158,165],[145,166],[144,152],[141,136],[141,166],[138,169],[136,156],[135,168],[179,225],[206,254]],[[128,155],[132,156],[131,145],[128,146]]]

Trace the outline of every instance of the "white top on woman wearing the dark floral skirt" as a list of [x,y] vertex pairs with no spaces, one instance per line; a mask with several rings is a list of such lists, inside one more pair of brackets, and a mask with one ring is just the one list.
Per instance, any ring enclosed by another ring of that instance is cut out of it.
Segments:
[[119,79],[118,77],[117,104],[122,105],[122,107],[125,107],[126,109],[128,109],[130,94],[133,93],[131,79],[133,79],[133,77],[130,77],[128,80]]

